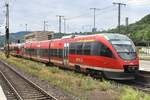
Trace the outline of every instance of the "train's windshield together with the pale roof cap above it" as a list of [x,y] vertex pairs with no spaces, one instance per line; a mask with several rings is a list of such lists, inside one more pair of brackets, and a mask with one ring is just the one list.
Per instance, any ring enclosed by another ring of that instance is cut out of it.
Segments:
[[101,34],[116,49],[119,56],[124,60],[133,60],[136,58],[136,50],[133,42],[126,35],[105,33]]

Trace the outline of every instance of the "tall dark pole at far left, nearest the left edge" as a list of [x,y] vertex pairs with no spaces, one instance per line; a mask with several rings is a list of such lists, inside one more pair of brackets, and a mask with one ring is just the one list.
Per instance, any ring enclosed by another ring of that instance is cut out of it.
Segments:
[[6,57],[9,58],[9,3],[6,2]]

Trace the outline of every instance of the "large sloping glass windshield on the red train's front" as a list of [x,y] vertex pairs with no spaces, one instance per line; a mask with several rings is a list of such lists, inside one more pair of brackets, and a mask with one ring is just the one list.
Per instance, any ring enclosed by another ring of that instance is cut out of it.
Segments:
[[122,59],[132,60],[136,58],[135,46],[131,40],[112,40],[111,43]]

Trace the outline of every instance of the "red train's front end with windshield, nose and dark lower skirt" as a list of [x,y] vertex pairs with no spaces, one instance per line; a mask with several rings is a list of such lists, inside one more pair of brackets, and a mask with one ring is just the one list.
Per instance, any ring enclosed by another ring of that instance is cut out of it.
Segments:
[[132,40],[121,34],[108,35],[107,39],[114,49],[115,59],[122,72],[105,73],[105,75],[117,80],[135,79],[135,73],[139,70],[139,57]]

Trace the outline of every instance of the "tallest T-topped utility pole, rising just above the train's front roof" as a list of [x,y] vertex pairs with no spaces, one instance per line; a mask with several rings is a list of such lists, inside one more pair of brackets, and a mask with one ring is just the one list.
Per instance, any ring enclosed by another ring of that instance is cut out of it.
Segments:
[[126,6],[126,4],[116,2],[113,2],[113,4],[118,5],[118,32],[120,33],[121,6]]

